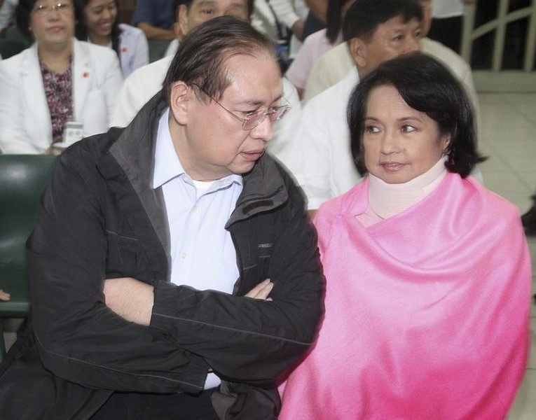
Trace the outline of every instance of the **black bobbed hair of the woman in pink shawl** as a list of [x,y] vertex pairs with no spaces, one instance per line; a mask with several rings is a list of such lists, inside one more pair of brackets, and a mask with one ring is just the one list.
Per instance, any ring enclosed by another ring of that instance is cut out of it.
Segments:
[[347,109],[350,145],[359,174],[367,172],[362,137],[369,95],[374,87],[385,85],[397,89],[408,106],[432,118],[441,134],[450,134],[445,162],[449,172],[465,178],[474,165],[486,160],[476,151],[473,109],[464,87],[436,59],[412,52],[380,64],[350,96]]

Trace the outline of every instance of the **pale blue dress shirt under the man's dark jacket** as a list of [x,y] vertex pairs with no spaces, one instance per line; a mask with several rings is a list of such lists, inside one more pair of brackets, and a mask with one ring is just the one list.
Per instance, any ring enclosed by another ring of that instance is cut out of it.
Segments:
[[[225,229],[242,192],[242,176],[193,181],[174,150],[169,109],[158,123],[153,188],[162,187],[170,226],[171,281],[197,290],[232,293],[239,276],[231,233]],[[197,185],[197,186],[196,186]],[[207,375],[205,389],[220,382]]]

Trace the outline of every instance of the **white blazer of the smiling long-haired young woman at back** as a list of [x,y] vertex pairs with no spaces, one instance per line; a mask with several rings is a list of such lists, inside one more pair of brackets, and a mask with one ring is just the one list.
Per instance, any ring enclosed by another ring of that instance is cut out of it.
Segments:
[[142,29],[119,24],[121,36],[119,50],[121,51],[121,70],[123,77],[127,76],[139,69],[139,67],[149,64],[149,43]]

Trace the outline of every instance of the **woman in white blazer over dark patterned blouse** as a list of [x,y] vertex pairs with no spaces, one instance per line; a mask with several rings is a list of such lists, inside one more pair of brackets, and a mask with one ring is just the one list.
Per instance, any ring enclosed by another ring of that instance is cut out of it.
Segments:
[[73,38],[76,17],[71,0],[20,0],[17,24],[35,42],[0,62],[1,152],[45,153],[108,130],[123,76],[113,51]]

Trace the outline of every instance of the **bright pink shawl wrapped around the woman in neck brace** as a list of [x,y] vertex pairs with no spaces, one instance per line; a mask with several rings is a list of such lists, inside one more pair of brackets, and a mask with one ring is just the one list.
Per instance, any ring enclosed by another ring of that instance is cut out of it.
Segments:
[[516,209],[447,174],[363,228],[368,179],[315,219],[327,279],[315,348],[282,420],[504,419],[528,351],[530,255]]

